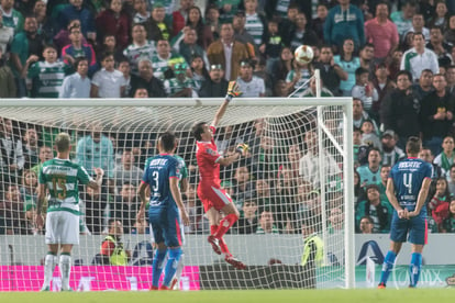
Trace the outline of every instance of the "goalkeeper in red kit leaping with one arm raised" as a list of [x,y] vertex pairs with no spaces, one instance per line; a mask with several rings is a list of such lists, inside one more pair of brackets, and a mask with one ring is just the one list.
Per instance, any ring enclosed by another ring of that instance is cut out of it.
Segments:
[[[210,125],[206,122],[195,124],[192,134],[197,139],[196,158],[200,175],[198,195],[210,222],[211,235],[208,240],[218,255],[224,254],[226,262],[237,269],[245,269],[245,265],[231,255],[223,239],[223,235],[238,220],[238,211],[232,203],[231,197],[220,187],[220,165],[231,165],[247,152],[248,146],[240,144],[236,147],[236,153],[229,157],[222,157],[218,153],[213,139],[215,127],[223,117],[229,102],[241,93],[237,83],[231,81],[225,100],[218,110],[213,122]],[[220,211],[224,214],[223,218],[221,218]]]

